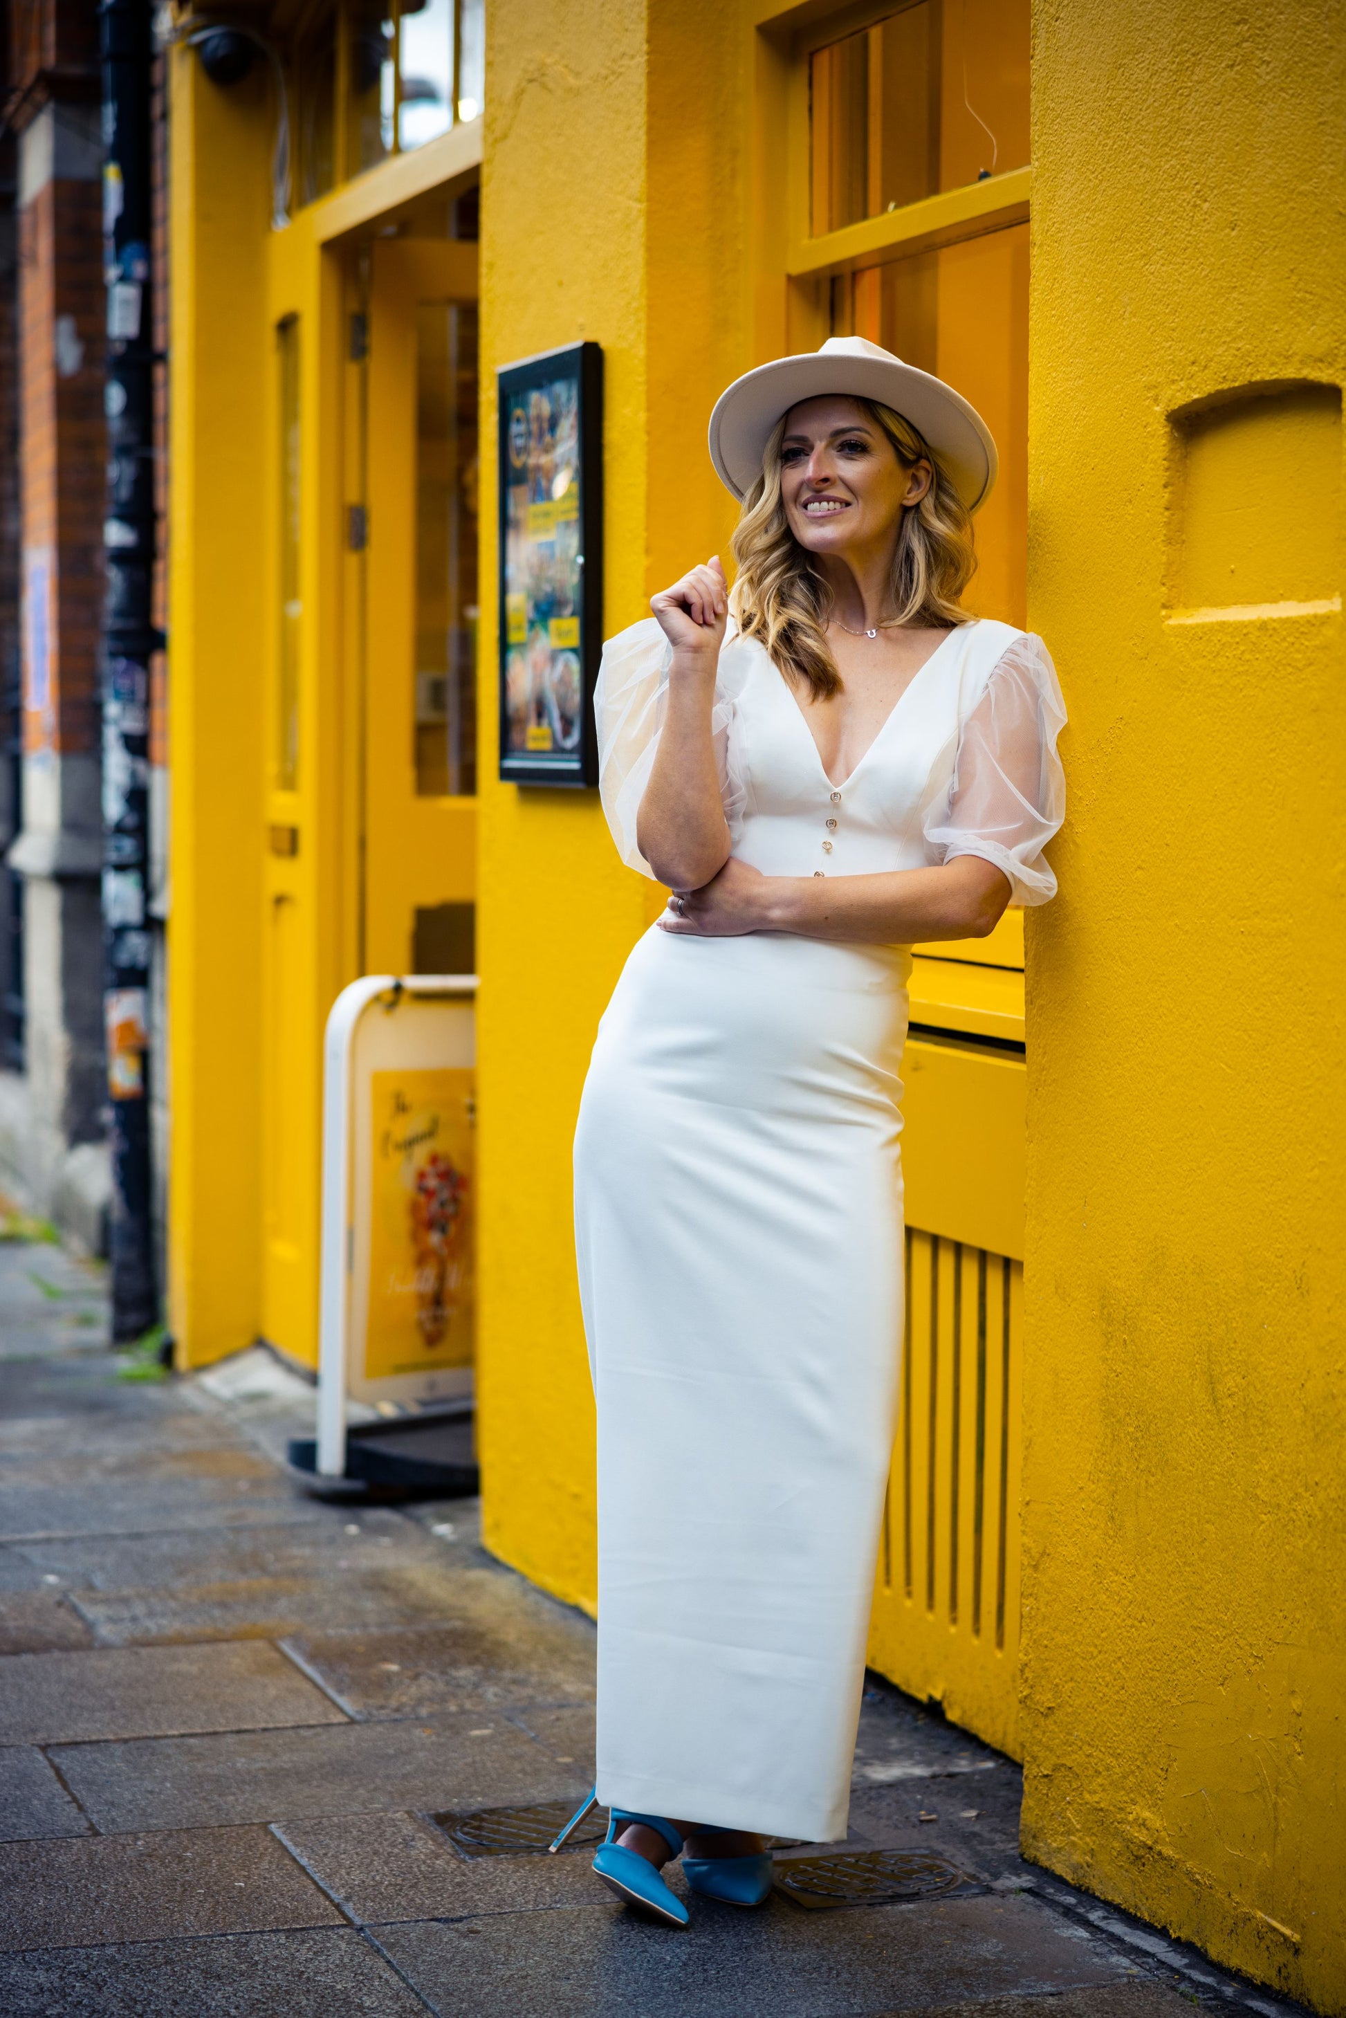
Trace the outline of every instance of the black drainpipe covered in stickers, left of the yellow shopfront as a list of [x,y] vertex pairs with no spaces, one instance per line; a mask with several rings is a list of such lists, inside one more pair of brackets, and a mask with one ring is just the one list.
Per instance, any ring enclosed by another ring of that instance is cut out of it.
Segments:
[[149,654],[153,349],[149,317],[149,0],[99,0],[109,490],[103,700],[103,1003],[113,1154],[113,1340],[157,1316],[149,1183]]

